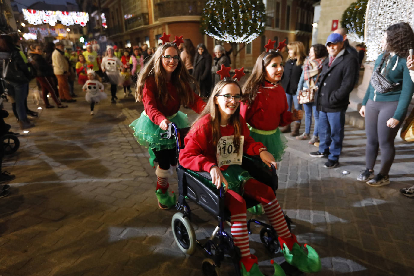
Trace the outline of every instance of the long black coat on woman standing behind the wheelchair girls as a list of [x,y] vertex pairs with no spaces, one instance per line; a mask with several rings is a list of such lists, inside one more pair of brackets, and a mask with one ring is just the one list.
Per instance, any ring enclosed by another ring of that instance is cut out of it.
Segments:
[[212,58],[207,49],[202,55],[197,52],[194,58],[193,76],[200,84],[200,95],[203,97],[209,96],[211,90],[211,61]]

